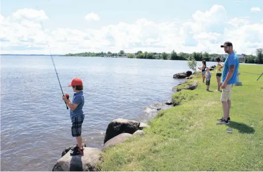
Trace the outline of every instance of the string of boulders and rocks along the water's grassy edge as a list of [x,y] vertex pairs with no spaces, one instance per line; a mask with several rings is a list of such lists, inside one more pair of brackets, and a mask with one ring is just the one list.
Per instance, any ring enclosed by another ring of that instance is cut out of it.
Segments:
[[[214,69],[214,68],[212,68]],[[185,78],[192,79],[195,77],[191,71],[187,71],[184,73],[174,74],[173,78]],[[183,89],[194,90],[197,87],[198,83],[193,81],[191,83],[185,80],[180,83],[178,86],[174,87],[173,90],[175,92],[181,91]],[[161,109],[171,108],[173,106],[177,106],[180,103],[171,99],[164,103],[157,103],[155,105],[155,109],[153,110],[154,118],[158,118],[158,111]],[[141,123],[133,120],[127,119],[115,119],[110,122],[107,126],[104,138],[104,145],[102,149],[93,148],[93,147],[84,147],[84,155],[71,156],[70,150],[74,145],[70,147],[66,147],[62,153],[61,158],[58,159],[53,166],[53,172],[61,172],[61,171],[99,171],[99,164],[102,162],[101,153],[105,151],[108,147],[114,147],[117,144],[123,143],[125,140],[132,138],[136,135],[143,136],[144,131],[143,128],[150,127],[147,123]]]

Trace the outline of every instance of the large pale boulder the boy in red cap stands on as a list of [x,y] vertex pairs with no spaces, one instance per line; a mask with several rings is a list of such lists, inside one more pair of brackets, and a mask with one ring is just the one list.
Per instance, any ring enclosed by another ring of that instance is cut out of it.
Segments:
[[71,156],[70,151],[56,161],[53,172],[97,172],[101,163],[101,150],[84,147],[83,155]]

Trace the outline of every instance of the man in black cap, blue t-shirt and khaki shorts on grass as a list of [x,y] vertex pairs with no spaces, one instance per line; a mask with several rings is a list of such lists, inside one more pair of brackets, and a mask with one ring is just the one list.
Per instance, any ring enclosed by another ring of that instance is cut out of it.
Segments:
[[218,121],[220,122],[216,124],[229,124],[229,112],[231,107],[230,96],[233,86],[237,83],[239,59],[237,54],[233,51],[233,45],[231,42],[225,42],[221,48],[224,48],[225,52],[228,53],[228,56],[224,63],[222,82],[220,82],[220,86],[222,87],[221,101],[223,104],[224,116],[219,119]]

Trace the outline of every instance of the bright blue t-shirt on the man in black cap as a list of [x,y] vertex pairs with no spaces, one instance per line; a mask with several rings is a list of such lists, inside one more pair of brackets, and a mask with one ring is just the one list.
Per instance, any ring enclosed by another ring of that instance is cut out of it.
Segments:
[[239,58],[235,52],[229,54],[224,63],[224,69],[222,74],[222,82],[224,82],[227,78],[227,74],[229,72],[229,66],[236,65],[234,74],[232,75],[231,79],[227,82],[227,84],[236,84],[237,83],[237,70],[239,67]]

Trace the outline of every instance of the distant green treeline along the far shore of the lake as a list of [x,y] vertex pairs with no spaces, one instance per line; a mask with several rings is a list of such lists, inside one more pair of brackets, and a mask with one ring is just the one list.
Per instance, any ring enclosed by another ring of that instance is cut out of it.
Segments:
[[[257,49],[256,50],[257,56],[254,55],[246,55],[245,56],[245,63],[261,63],[263,64],[263,49]],[[82,52],[82,53],[76,53],[76,54],[65,54],[64,56],[86,56],[86,57],[128,57],[128,58],[140,58],[140,59],[164,59],[164,60],[190,60],[192,57],[196,61],[215,61],[215,58],[220,57],[222,61],[225,60],[225,57],[223,54],[216,54],[212,53],[209,54],[208,52],[193,52],[193,53],[184,53],[180,52],[177,53],[174,50],[171,53],[162,52],[142,52],[137,51],[135,53],[125,53],[124,50],[120,50],[119,53],[112,53],[112,52]]]

